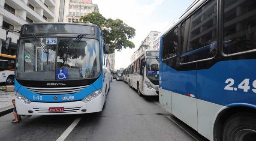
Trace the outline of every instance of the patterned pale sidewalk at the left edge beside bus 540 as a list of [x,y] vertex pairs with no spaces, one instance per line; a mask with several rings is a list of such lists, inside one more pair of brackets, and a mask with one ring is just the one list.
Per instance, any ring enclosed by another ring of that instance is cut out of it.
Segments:
[[14,92],[0,91],[0,117],[12,112]]

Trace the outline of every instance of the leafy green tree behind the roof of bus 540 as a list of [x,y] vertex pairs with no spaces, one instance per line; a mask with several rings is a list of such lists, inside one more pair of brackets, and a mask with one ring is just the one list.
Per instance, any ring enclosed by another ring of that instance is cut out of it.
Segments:
[[106,43],[109,44],[109,52],[120,51],[122,48],[134,48],[133,42],[129,41],[136,33],[133,27],[128,26],[120,19],[106,19],[98,12],[91,12],[80,18],[82,23],[91,23],[99,26],[106,36]]

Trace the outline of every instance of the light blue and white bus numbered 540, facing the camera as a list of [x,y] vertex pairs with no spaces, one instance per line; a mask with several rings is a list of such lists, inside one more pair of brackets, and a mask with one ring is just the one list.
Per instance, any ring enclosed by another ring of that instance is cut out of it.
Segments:
[[18,114],[102,111],[111,75],[108,45],[95,25],[21,26],[15,64]]

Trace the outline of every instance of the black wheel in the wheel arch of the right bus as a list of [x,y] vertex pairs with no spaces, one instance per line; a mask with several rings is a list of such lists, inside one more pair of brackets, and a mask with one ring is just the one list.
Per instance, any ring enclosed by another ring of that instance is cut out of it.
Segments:
[[222,141],[254,141],[256,139],[256,114],[238,113],[224,124]]

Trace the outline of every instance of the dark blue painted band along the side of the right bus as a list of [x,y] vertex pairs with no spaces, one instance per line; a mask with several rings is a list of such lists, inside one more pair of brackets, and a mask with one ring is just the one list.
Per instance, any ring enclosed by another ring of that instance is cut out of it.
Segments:
[[[256,89],[253,87],[253,81],[256,80],[256,75],[253,75],[256,70],[255,62],[255,59],[226,60],[214,64],[209,69],[180,72],[161,62],[160,65],[163,66],[160,67],[160,87],[183,95],[190,93],[197,99],[224,106],[232,103],[256,105],[256,93],[252,90]],[[235,81],[231,86],[236,88],[235,90],[224,90],[228,85],[225,82],[229,78]],[[250,79],[248,92],[238,88],[246,78]]]

